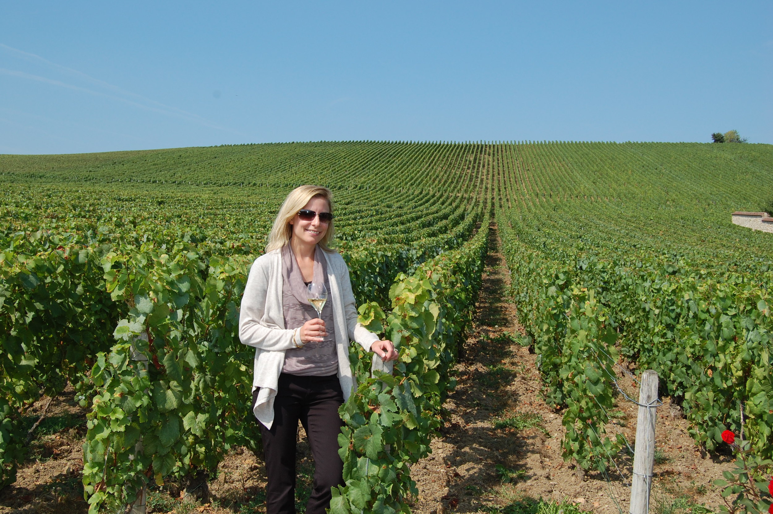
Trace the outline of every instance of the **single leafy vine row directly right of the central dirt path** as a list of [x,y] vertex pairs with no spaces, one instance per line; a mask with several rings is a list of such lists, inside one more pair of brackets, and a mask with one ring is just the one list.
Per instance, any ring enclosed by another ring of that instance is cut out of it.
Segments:
[[[499,223],[505,226],[506,221]],[[521,322],[533,332],[547,402],[565,406],[564,459],[582,468],[606,469],[623,441],[604,437],[615,401],[615,322],[594,291],[572,284],[570,270],[538,260],[533,251],[502,231]],[[523,300],[528,299],[530,303]]]

